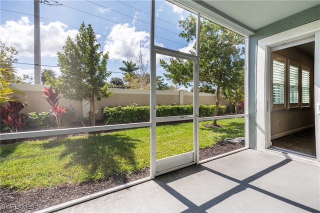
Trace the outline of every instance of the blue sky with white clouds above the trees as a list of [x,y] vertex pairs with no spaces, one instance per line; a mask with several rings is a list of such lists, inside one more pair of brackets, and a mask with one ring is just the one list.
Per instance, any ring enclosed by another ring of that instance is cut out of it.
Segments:
[[[51,5],[50,5],[51,4]],[[140,51],[144,63],[150,51],[149,0],[40,0],[41,68],[60,74],[57,51],[62,51],[67,35],[74,38],[83,21],[91,24],[100,51],[108,52],[110,77],[122,77],[122,60],[136,61]],[[178,36],[178,21],[189,11],[164,0],[155,1],[155,44],[188,52],[193,43]],[[34,76],[33,0],[0,0],[0,39],[18,51],[18,75]],[[159,58],[159,57],[158,57]],[[163,70],[157,66],[157,75]],[[110,79],[108,78],[108,80]]]

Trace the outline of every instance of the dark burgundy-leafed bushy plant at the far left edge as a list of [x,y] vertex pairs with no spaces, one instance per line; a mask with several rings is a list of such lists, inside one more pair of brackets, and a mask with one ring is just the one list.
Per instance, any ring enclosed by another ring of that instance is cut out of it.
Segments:
[[27,123],[26,120],[22,120],[22,116],[19,114],[19,111],[23,108],[24,105],[21,102],[9,100],[5,107],[1,106],[1,121],[9,125],[16,132],[20,131],[22,126]]

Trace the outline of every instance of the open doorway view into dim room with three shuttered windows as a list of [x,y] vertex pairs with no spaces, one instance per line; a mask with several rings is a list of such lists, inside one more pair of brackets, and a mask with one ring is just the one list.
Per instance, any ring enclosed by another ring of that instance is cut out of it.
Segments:
[[271,148],[316,157],[314,41],[271,49]]

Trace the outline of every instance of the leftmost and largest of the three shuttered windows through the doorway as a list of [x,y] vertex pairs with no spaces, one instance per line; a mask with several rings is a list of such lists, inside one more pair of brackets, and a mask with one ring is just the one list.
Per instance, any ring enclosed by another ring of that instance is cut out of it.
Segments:
[[285,107],[285,57],[272,53],[272,108]]

